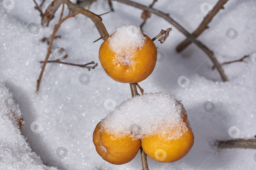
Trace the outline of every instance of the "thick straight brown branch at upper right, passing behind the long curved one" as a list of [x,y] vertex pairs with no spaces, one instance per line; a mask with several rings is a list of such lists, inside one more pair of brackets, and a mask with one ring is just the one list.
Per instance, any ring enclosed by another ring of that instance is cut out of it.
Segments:
[[[212,9],[210,14],[207,14],[204,17],[204,20],[201,22],[201,24],[198,26],[198,28],[193,32],[193,36],[198,37],[205,29],[209,28],[208,24],[212,20],[212,18],[219,12],[220,9],[224,9],[223,5],[227,2],[228,0],[219,0],[215,7]],[[189,44],[191,43],[191,40],[188,38],[184,40],[182,43],[180,43],[176,47],[177,52],[181,52],[184,48],[186,48]]]

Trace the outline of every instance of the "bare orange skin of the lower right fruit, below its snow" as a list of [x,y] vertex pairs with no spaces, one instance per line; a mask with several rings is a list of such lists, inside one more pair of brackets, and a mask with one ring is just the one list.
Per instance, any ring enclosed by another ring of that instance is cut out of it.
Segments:
[[[187,122],[186,114],[184,114],[183,122]],[[180,131],[180,128],[170,129],[170,131],[173,130]],[[159,133],[143,138],[141,145],[144,152],[155,161],[178,161],[190,151],[194,143],[194,134],[189,127],[186,132],[182,133],[183,135],[178,139],[168,140],[170,136],[162,135],[160,129]]]

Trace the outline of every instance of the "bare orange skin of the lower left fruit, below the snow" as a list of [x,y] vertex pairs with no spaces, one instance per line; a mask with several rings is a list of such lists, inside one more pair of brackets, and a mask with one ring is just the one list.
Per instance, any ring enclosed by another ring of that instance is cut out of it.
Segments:
[[[101,122],[100,122],[101,123]],[[138,153],[141,147],[141,140],[132,140],[130,135],[117,138],[113,134],[106,133],[101,129],[100,123],[94,129],[93,143],[98,154],[109,163],[121,165],[130,162]],[[104,146],[107,150],[102,150]]]

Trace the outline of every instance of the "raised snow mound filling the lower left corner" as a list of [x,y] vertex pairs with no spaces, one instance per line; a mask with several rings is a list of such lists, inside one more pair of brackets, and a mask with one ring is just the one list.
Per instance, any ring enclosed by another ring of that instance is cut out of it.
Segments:
[[40,157],[31,151],[18,129],[18,124],[23,123],[21,118],[16,99],[0,83],[0,169],[57,170],[44,165]]

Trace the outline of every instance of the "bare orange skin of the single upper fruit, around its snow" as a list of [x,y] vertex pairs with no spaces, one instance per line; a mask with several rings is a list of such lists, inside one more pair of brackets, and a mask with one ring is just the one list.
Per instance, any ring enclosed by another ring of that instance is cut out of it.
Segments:
[[[113,34],[112,34],[113,35]],[[120,64],[115,58],[115,52],[109,47],[108,39],[102,44],[99,50],[101,66],[107,75],[117,82],[138,83],[145,80],[154,70],[157,60],[157,49],[153,41],[146,36],[145,45],[133,53],[135,65]]]

